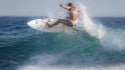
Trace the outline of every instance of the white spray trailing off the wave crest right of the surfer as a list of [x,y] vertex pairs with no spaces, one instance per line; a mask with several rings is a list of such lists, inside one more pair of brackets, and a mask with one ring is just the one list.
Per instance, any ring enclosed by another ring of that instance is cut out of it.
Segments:
[[125,47],[125,32],[123,29],[111,29],[101,23],[94,23],[86,13],[82,15],[82,27],[91,35],[100,40],[104,47],[123,49]]

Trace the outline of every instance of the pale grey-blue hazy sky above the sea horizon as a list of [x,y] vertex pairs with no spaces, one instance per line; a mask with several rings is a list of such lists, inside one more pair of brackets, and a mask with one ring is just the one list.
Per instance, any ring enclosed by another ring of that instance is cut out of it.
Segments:
[[0,16],[47,16],[64,12],[59,4],[82,4],[90,16],[125,16],[125,0],[0,0]]

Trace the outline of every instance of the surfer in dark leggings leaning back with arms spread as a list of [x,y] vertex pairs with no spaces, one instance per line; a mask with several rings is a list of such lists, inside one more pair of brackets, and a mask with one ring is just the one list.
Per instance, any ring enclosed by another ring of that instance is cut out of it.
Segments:
[[69,27],[73,27],[78,22],[78,12],[83,12],[83,9],[76,8],[73,3],[68,3],[67,6],[60,4],[60,6],[66,10],[68,10],[69,16],[66,17],[66,19],[58,19],[55,23],[49,24],[49,22],[46,22],[46,25],[51,28],[52,26],[55,26],[59,23],[65,24]]

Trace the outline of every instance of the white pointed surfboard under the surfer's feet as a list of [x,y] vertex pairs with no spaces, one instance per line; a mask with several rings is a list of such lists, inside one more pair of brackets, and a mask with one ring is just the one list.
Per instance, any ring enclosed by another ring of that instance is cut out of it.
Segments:
[[49,28],[47,25],[46,25],[46,22],[48,22],[48,20],[51,22],[49,24],[53,24],[56,19],[51,19],[51,18],[46,18],[46,19],[34,19],[34,20],[31,20],[29,21],[27,24],[36,29],[36,30],[40,30],[42,32],[60,32],[60,31],[63,31],[65,28],[68,28],[68,26],[66,25],[63,25],[63,24],[58,24],[56,26],[53,26],[51,28]]

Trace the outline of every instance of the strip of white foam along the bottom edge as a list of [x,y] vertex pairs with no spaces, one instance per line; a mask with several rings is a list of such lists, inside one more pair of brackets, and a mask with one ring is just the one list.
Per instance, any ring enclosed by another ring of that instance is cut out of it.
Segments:
[[17,70],[124,70],[125,65],[105,66],[105,67],[52,67],[52,66],[22,66]]

